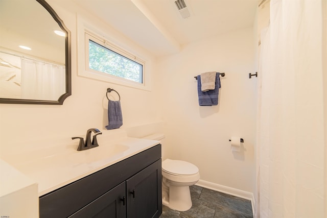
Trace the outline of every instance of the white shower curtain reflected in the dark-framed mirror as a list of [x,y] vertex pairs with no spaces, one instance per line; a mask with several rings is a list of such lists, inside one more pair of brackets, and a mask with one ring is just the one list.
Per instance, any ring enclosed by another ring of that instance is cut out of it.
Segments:
[[21,58],[22,99],[57,101],[65,93],[65,66]]

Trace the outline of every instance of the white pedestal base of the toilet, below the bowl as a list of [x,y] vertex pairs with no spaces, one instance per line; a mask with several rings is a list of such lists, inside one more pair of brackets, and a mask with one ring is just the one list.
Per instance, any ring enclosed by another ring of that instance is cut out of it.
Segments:
[[162,199],[162,204],[177,210],[186,211],[192,207],[192,200],[189,186],[169,186],[169,200]]

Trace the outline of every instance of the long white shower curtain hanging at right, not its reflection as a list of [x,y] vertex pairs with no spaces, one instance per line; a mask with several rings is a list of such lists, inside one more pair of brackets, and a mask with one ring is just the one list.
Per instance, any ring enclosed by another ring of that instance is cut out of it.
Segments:
[[270,25],[261,34],[256,213],[261,218],[327,215],[322,1],[271,0]]

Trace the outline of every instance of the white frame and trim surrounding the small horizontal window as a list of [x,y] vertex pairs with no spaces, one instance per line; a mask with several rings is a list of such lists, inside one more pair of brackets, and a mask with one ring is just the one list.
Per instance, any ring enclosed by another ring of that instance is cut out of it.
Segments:
[[[77,14],[77,68],[76,73],[78,77],[83,77],[86,79],[97,80],[105,83],[109,83],[108,87],[112,87],[110,84],[125,86],[128,88],[135,88],[145,91],[152,91],[152,65],[153,56],[152,54],[145,50],[142,46],[131,41],[124,34],[117,32],[115,29],[110,28],[101,22],[92,22],[90,19],[86,20],[80,14]],[[106,40],[113,47],[120,48],[126,51],[128,54],[133,54],[138,59],[142,60],[145,65],[143,67],[143,84],[133,83],[124,80],[119,77],[114,77],[109,74],[100,72],[91,72],[85,68],[85,32],[88,32],[94,37],[99,37]],[[74,43],[73,43],[74,44]]]

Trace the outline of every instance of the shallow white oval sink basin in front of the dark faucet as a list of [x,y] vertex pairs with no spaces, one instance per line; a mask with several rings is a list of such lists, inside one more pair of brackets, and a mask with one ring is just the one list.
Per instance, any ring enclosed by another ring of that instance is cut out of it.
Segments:
[[116,156],[123,156],[129,149],[124,144],[114,144],[112,146],[99,146],[85,151],[78,151],[69,156],[73,163],[92,163],[107,160]]

